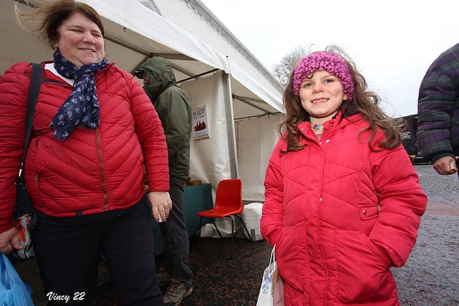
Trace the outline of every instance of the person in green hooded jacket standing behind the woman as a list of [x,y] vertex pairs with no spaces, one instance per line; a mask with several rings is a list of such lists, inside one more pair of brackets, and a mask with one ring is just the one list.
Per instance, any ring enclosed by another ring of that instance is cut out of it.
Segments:
[[159,224],[166,250],[167,272],[159,273],[157,280],[160,286],[169,285],[164,304],[178,305],[193,290],[183,196],[190,168],[191,106],[185,92],[176,86],[172,67],[165,59],[150,58],[134,74],[143,79],[143,89],[155,106],[166,135],[172,207],[167,220]]

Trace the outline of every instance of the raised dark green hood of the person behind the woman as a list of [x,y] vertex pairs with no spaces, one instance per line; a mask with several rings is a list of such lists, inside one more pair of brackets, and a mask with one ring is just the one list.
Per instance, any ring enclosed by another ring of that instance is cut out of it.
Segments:
[[146,60],[137,70],[148,74],[148,82],[143,86],[151,102],[155,103],[166,88],[175,85],[175,75],[169,62],[161,57]]

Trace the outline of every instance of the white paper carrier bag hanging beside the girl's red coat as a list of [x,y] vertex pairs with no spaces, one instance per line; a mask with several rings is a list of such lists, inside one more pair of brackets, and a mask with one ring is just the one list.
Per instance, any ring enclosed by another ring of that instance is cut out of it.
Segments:
[[284,306],[284,282],[277,270],[275,247],[272,248],[269,265],[263,273],[257,306]]

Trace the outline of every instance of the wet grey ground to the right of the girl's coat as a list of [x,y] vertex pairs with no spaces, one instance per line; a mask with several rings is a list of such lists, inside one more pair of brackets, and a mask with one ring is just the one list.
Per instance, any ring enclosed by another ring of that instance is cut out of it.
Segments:
[[459,180],[431,165],[416,171],[428,196],[418,240],[401,268],[392,268],[401,305],[459,305]]

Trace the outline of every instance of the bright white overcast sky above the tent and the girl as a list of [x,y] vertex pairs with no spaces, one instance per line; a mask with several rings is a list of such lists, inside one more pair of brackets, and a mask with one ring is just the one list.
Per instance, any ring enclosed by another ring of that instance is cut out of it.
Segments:
[[417,112],[433,60],[459,42],[459,0],[200,0],[269,70],[296,46],[341,46],[390,115]]

